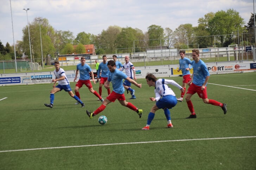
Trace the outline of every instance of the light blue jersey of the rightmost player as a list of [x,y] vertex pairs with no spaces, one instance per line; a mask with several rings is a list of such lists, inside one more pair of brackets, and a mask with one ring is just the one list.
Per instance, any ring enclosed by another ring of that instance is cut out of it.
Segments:
[[[196,84],[197,86],[203,86],[205,79],[207,76],[210,76],[210,73],[206,67],[206,64],[202,61],[199,60],[197,63],[192,62],[193,66],[193,83]],[[207,83],[205,84],[205,86]]]

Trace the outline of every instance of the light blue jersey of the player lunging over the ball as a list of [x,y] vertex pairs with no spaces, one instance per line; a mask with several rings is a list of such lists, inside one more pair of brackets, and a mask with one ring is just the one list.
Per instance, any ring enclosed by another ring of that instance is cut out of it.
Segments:
[[118,94],[124,93],[123,79],[126,79],[127,75],[118,70],[117,68],[113,73],[109,72],[108,81],[112,81],[113,91]]

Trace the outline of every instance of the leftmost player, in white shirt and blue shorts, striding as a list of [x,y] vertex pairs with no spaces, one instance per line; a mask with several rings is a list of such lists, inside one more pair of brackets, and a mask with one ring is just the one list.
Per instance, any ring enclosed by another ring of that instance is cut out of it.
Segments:
[[[54,101],[54,94],[58,91],[65,90],[69,93],[69,95],[76,99],[77,102],[79,102],[82,107],[84,107],[84,103],[73,94],[73,91],[71,90],[71,87],[69,85],[69,81],[66,77],[65,71],[59,67],[59,62],[54,62],[55,70],[53,71],[53,74],[55,75],[55,79],[52,79],[53,83],[53,89],[50,91],[50,104],[44,104],[46,107],[52,108],[53,107],[53,101]],[[56,86],[56,82],[59,82]]]

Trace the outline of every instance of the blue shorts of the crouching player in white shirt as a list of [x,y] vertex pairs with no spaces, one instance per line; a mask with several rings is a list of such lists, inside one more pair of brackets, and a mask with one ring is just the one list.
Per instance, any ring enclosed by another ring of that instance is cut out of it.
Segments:
[[173,95],[167,95],[160,98],[159,101],[156,102],[156,106],[159,109],[168,108],[171,109],[177,104],[177,98]]

